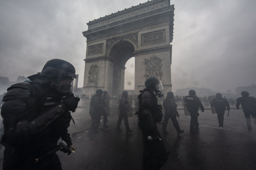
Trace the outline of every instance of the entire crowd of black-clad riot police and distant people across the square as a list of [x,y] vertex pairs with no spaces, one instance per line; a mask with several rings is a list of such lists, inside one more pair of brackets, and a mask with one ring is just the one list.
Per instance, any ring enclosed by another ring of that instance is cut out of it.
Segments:
[[[103,116],[103,129],[108,128],[107,116],[109,114],[109,99],[116,99],[118,95],[109,96],[107,91],[97,89],[95,94],[77,96],[71,91],[71,83],[76,78],[75,68],[72,64],[61,59],[52,59],[46,62],[41,72],[28,77],[30,81],[13,84],[3,96],[1,116],[3,118],[4,133],[1,144],[5,147],[3,170],[61,170],[61,162],[56,154],[62,151],[68,155],[76,149],[68,133],[70,121],[73,121],[71,112],[75,112],[79,97],[90,97],[91,128],[88,137],[97,137],[101,116]],[[176,101],[183,100],[168,92],[164,98],[161,80],[156,77],[147,78],[145,88],[138,95],[138,126],[142,134],[143,170],[155,170],[164,166],[170,154],[166,150],[163,138],[157,128],[162,122],[162,132],[166,130],[168,120],[171,119],[177,134],[184,132],[180,128],[177,117]],[[236,109],[242,105],[246,117],[248,132],[252,131],[251,117],[256,124],[256,99],[249,97],[244,91],[242,97],[236,99]],[[133,98],[135,95],[133,95]],[[202,103],[207,103],[207,97],[200,99],[195,90],[190,90],[184,98],[185,109],[190,114],[190,133],[199,131],[198,111],[204,112]],[[119,118],[117,131],[124,120],[126,133],[132,133],[129,127],[128,113],[130,103],[128,92],[122,92],[119,99]],[[163,100],[163,106],[158,104]],[[231,99],[231,104],[232,104]],[[234,101],[234,100],[233,100]],[[230,109],[228,99],[216,94],[211,106],[218,115],[219,127],[223,127],[223,115]],[[164,107],[165,113],[162,113]],[[163,134],[162,133],[162,134]],[[62,141],[58,144],[58,140]]]

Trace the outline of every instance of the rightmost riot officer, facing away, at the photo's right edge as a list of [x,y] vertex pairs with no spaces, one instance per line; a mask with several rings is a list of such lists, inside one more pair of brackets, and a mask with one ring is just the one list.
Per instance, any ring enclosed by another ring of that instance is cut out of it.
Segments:
[[248,127],[248,132],[252,132],[251,125],[251,116],[253,118],[254,123],[256,124],[256,99],[254,97],[249,97],[249,93],[247,91],[241,92],[242,97],[239,97],[236,101],[236,109],[239,110],[240,104],[242,105],[243,112],[246,118],[246,124]]

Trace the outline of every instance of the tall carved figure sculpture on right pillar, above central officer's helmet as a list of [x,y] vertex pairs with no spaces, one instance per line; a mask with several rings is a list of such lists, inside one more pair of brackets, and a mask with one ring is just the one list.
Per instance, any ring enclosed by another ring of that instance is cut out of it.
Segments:
[[144,58],[145,62],[145,78],[150,78],[150,77],[156,77],[157,79],[161,80],[162,78],[162,59],[159,57],[156,57],[153,55],[153,57],[150,57],[149,59]]

